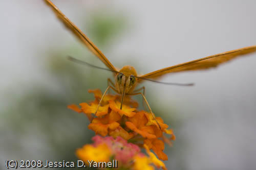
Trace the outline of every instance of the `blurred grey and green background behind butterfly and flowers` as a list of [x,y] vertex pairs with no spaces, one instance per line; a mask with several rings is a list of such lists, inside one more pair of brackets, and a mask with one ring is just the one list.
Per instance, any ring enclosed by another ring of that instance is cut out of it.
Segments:
[[[256,44],[255,1],[53,1],[116,67],[139,74]],[[76,160],[91,141],[87,117],[67,109],[93,99],[112,74],[42,1],[1,1],[0,166],[6,159]],[[157,116],[174,129],[169,169],[255,169],[256,54],[216,69],[146,82]],[[141,100],[140,98],[138,98]]]

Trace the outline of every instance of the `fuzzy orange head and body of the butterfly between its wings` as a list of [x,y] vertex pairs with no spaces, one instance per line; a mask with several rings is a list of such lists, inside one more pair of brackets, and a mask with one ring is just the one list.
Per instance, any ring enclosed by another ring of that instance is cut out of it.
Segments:
[[137,72],[133,66],[125,65],[119,70],[120,74],[115,76],[115,86],[117,91],[122,94],[132,93],[137,85]]

